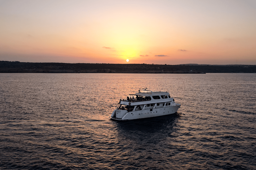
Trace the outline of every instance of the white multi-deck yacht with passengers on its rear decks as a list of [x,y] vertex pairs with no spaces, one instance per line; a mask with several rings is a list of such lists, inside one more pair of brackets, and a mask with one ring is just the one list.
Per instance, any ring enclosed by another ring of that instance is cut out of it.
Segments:
[[170,115],[176,113],[181,106],[168,92],[153,92],[147,88],[139,90],[139,93],[130,94],[130,98],[120,99],[119,105],[110,119],[127,121]]

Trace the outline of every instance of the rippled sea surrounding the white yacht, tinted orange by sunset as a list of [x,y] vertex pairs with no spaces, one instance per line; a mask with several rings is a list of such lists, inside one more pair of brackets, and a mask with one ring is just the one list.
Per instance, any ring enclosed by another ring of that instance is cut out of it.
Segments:
[[[174,115],[115,122],[168,91]],[[256,169],[256,74],[0,74],[0,169]]]

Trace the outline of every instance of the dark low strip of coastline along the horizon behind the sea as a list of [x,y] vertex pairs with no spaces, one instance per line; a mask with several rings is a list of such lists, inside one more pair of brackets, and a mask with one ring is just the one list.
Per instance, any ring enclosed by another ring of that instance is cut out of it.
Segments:
[[0,73],[255,73],[256,65],[37,63],[0,61]]

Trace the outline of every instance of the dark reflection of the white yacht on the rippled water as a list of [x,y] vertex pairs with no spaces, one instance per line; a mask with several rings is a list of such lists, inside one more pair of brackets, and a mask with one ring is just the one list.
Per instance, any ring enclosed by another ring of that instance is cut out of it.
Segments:
[[174,134],[178,128],[174,127],[177,126],[179,118],[180,114],[172,114],[156,118],[115,122],[117,138],[123,144],[136,144],[136,148],[147,148],[145,144],[149,147],[156,147],[161,141],[175,137]]

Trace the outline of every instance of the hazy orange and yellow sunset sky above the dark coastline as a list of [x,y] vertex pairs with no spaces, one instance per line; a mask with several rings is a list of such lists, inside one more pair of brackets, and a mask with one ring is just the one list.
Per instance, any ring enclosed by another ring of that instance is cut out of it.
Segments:
[[256,0],[1,0],[0,60],[254,65]]

